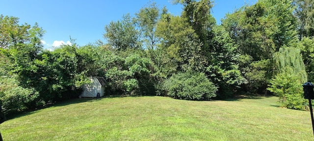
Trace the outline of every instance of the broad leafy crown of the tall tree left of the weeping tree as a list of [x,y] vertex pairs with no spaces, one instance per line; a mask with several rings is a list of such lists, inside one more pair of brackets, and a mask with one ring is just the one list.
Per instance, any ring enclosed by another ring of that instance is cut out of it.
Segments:
[[222,25],[243,55],[253,61],[271,59],[280,47],[297,42],[292,0],[259,0],[227,14]]

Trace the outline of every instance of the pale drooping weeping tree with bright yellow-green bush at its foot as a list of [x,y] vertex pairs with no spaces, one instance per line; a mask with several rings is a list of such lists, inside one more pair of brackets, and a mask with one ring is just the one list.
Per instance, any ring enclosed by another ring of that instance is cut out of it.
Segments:
[[273,56],[275,72],[267,88],[279,96],[282,106],[289,109],[304,109],[307,105],[303,98],[302,83],[307,81],[307,73],[300,49],[295,47],[280,48]]

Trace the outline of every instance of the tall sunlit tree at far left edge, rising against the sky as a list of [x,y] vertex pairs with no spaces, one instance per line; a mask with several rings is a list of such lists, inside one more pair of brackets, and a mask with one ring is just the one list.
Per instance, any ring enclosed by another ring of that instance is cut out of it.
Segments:
[[34,26],[19,25],[18,18],[15,17],[6,16],[1,22],[4,23],[1,23],[3,26],[0,32],[4,34],[0,36],[0,40],[5,41],[2,42],[5,43],[2,48],[7,48],[1,51],[10,60],[10,68],[7,69],[17,74],[20,80],[23,77],[31,77],[35,72],[32,62],[42,51],[41,39],[45,31],[37,23]]

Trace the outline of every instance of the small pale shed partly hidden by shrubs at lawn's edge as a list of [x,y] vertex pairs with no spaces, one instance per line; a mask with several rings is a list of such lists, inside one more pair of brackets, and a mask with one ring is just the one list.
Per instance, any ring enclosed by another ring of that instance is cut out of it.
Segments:
[[104,96],[105,93],[105,79],[103,77],[90,77],[92,83],[83,85],[83,92],[81,97],[97,97],[97,93],[100,96]]

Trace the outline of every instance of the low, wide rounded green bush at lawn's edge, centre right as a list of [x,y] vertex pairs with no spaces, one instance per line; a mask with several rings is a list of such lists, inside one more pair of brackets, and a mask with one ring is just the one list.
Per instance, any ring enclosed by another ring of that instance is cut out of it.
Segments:
[[207,100],[217,92],[217,87],[203,72],[175,74],[165,81],[164,88],[168,96],[185,100]]

